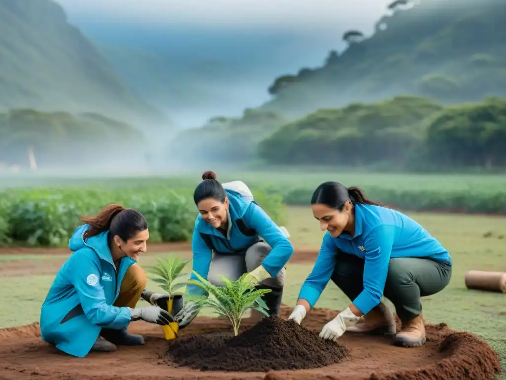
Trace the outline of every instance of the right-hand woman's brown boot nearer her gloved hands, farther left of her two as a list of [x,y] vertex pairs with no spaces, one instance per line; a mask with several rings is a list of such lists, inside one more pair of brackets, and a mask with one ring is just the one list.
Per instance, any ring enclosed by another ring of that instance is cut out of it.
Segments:
[[397,330],[394,314],[382,301],[346,331],[369,335],[395,335]]

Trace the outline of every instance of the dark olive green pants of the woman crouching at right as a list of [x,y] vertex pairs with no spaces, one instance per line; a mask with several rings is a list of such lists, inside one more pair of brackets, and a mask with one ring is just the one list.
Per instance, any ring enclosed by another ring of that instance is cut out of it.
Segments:
[[[352,301],[362,292],[364,260],[340,252],[331,280]],[[436,294],[450,282],[451,264],[428,258],[391,258],[384,296],[395,306],[402,322],[421,313],[420,297]]]

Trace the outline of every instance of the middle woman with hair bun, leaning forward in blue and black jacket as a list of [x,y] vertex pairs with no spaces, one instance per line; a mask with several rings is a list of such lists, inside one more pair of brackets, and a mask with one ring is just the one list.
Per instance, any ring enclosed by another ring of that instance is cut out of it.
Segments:
[[[192,237],[193,271],[216,286],[223,286],[220,275],[234,281],[247,272],[257,288],[272,290],[263,299],[269,314],[279,315],[284,265],[293,253],[286,230],[271,220],[241,181],[222,185],[215,173],[205,172],[193,199],[199,211]],[[197,279],[193,274],[191,278]],[[202,294],[197,286],[187,287],[190,297]],[[198,310],[186,302],[175,317],[180,328],[190,324]]]

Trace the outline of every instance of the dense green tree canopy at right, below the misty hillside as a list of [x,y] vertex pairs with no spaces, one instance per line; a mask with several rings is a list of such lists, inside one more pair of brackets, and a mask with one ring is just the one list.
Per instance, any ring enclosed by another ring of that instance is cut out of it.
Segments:
[[272,164],[403,169],[506,167],[506,100],[443,106],[399,96],[319,109],[259,144]]

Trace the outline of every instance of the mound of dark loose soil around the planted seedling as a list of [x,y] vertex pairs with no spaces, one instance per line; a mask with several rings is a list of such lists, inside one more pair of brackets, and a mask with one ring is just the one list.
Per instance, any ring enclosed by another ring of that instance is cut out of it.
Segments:
[[167,354],[194,369],[262,372],[324,367],[350,357],[346,347],[318,335],[293,321],[269,317],[233,337],[179,339]]

